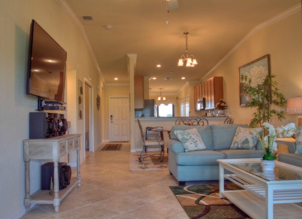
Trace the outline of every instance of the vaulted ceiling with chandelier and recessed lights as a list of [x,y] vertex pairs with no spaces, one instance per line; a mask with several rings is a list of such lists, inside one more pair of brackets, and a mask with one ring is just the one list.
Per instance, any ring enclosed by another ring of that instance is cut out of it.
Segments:
[[[300,3],[178,0],[179,8],[170,11],[167,25],[165,0],[66,1],[85,28],[106,83],[128,83],[126,54],[136,53],[136,74],[157,78],[150,81],[151,92],[161,87],[169,93],[178,92],[188,80],[200,80],[252,28]],[[93,20],[85,21],[81,15]],[[106,25],[112,29],[106,30]],[[185,31],[189,32],[189,54],[198,61],[195,67],[177,66],[185,50]]]

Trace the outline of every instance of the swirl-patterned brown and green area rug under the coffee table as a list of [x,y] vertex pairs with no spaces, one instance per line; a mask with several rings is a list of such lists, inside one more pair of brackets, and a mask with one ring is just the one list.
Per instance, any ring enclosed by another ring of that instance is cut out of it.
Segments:
[[[236,205],[219,197],[219,184],[170,186],[190,219],[251,219]],[[224,190],[242,190],[233,183],[226,183]]]

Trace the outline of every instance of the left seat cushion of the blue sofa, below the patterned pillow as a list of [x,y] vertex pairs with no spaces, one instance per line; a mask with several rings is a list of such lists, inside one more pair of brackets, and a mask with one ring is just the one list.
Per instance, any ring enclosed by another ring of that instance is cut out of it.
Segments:
[[217,159],[225,159],[226,155],[218,151],[191,151],[176,154],[178,165],[218,165]]

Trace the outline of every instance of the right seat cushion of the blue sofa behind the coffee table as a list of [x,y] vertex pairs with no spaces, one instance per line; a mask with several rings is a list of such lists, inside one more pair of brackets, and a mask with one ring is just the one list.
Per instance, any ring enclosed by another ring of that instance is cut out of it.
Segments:
[[261,150],[240,149],[240,150],[218,150],[217,152],[225,154],[226,159],[262,158],[263,157],[263,151],[261,151]]

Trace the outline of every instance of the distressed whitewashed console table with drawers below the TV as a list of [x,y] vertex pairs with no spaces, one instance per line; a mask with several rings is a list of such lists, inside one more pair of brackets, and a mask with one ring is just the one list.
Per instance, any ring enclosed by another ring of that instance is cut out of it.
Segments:
[[[76,186],[81,186],[80,177],[80,134],[63,135],[46,139],[26,139],[24,143],[25,162],[25,207],[26,212],[31,211],[31,204],[53,204],[55,212],[59,211],[60,201]],[[61,156],[76,150],[77,155],[77,177],[72,177],[70,184],[59,191],[58,162]],[[39,190],[30,195],[30,160],[52,160],[54,163],[54,194],[51,196],[49,190]]]

